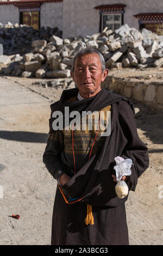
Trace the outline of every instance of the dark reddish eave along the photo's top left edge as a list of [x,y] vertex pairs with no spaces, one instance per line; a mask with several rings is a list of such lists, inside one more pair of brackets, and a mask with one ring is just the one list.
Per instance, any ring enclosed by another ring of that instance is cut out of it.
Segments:
[[26,1],[2,1],[0,5],[14,5],[18,9],[30,9],[30,8],[40,8],[43,3],[57,3],[63,0],[26,0]]

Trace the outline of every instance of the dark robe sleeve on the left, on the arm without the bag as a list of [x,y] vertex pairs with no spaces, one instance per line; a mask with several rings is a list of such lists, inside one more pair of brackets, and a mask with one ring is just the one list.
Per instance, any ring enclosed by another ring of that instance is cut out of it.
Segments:
[[51,173],[54,179],[59,181],[59,178],[64,174],[64,168],[61,163],[61,152],[64,149],[64,135],[62,131],[53,131],[49,133],[45,152],[43,153],[43,163],[45,163],[48,172]]

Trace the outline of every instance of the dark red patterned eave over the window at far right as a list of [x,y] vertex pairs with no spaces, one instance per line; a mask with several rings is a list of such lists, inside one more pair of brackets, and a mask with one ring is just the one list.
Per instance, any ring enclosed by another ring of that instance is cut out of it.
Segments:
[[133,15],[139,23],[162,23],[163,13],[140,13]]

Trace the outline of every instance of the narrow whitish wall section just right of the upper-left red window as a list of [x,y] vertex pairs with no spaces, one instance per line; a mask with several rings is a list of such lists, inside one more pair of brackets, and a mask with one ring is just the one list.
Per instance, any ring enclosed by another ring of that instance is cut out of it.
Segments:
[[40,11],[40,27],[58,27],[62,30],[62,3],[44,3]]

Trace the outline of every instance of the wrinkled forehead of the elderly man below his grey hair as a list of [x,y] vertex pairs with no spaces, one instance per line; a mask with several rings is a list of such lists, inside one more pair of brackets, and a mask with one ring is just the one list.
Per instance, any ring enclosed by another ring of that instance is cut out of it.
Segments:
[[77,56],[75,66],[96,65],[101,67],[101,60],[97,53],[82,54]]

